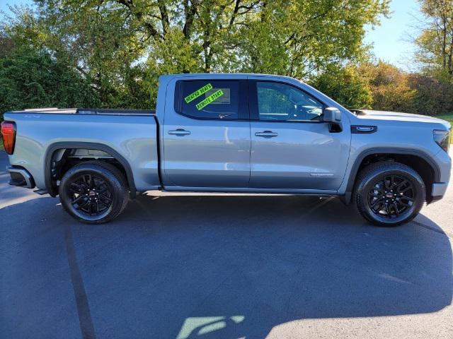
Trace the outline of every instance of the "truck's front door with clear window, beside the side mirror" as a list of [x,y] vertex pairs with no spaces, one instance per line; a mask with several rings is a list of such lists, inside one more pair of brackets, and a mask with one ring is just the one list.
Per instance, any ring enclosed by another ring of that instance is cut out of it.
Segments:
[[349,122],[329,131],[324,105],[287,83],[249,81],[250,186],[260,189],[334,191],[348,164]]

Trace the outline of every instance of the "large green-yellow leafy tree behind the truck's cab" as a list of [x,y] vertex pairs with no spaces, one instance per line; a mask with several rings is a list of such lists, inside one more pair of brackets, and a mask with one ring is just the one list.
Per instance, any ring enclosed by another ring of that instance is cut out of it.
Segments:
[[149,107],[164,73],[303,78],[360,59],[389,0],[35,0],[6,25],[90,78],[102,105]]

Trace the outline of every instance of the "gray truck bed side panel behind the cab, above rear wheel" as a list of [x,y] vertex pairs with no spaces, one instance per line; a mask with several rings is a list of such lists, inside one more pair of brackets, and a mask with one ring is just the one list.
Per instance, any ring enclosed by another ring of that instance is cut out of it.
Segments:
[[50,166],[62,150],[74,157],[101,150],[125,167],[132,191],[156,189],[159,182],[158,124],[154,110],[40,108],[6,112],[4,119],[16,123],[16,150],[12,166],[30,172],[38,189],[47,189]]

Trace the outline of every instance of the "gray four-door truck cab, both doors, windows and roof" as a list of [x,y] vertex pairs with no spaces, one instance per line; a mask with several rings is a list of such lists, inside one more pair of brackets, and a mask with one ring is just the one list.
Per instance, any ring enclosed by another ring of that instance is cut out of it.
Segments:
[[[285,77],[222,74],[162,77],[161,84],[166,189],[334,194],[340,187],[350,113],[334,127],[323,121],[333,102],[313,88]],[[212,90],[185,101],[205,85]],[[219,100],[197,108],[217,90]]]

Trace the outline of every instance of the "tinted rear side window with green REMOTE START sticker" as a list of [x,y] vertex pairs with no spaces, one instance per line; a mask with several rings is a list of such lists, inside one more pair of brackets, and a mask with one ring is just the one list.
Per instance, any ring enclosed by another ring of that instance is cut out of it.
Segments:
[[195,119],[239,117],[239,81],[178,81],[176,112]]

